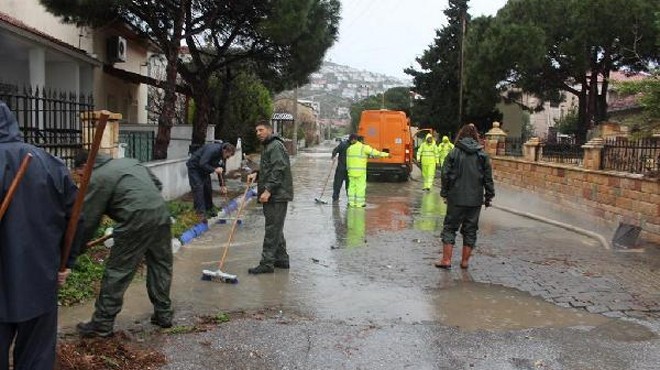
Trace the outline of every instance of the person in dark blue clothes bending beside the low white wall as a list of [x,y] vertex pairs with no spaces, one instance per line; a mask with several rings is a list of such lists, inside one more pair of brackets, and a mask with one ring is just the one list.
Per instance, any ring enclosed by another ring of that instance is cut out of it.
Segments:
[[[188,181],[193,193],[195,211],[204,219],[215,216],[213,212],[213,193],[211,188],[211,174],[222,176],[227,172],[226,161],[234,155],[236,147],[229,143],[209,143],[197,149],[188,162]],[[224,184],[220,184],[220,192],[227,193]]]

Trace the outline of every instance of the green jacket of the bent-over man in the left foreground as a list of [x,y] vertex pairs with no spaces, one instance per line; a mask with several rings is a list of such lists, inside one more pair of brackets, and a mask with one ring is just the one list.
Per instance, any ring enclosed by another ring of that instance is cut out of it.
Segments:
[[169,224],[161,190],[158,178],[137,160],[98,154],[83,206],[85,240],[94,236],[104,214],[117,222],[115,234]]

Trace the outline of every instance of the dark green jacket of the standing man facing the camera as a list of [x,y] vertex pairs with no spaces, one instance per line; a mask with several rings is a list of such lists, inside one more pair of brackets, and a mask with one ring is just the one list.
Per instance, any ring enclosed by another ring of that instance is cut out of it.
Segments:
[[279,136],[271,136],[264,142],[261,164],[257,177],[257,193],[270,192],[269,202],[289,202],[293,200],[293,177],[289,153]]

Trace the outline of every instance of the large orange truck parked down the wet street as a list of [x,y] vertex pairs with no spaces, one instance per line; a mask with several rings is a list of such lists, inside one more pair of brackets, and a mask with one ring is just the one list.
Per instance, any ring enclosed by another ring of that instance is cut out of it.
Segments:
[[410,121],[401,111],[365,110],[360,116],[358,135],[374,149],[390,153],[390,158],[372,158],[367,176],[407,181],[412,171],[413,140]]

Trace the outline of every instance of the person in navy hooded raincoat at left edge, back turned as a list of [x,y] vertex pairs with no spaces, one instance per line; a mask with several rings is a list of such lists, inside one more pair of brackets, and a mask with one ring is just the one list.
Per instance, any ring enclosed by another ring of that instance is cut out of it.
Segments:
[[64,162],[23,142],[16,118],[0,101],[0,200],[28,153],[32,161],[0,221],[2,370],[9,369],[12,343],[15,369],[53,369],[57,286],[70,271],[58,273],[60,253],[78,188]]

